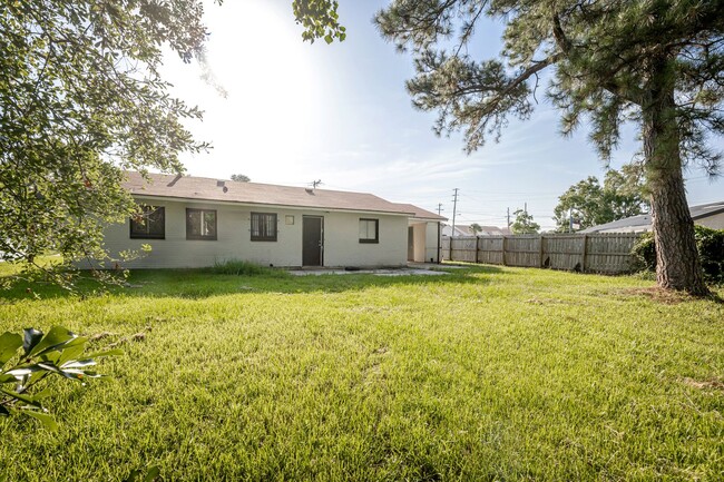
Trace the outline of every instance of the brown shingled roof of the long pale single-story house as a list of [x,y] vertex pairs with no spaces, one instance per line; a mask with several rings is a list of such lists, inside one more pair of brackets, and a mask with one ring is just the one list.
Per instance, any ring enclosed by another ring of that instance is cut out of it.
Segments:
[[[150,181],[139,173],[127,173],[124,186],[131,194],[193,200],[260,204],[270,206],[309,207],[400,214],[415,216],[423,209],[412,205],[390,203],[366,193],[276,186],[272,184],[237,183],[207,177],[148,174]],[[414,208],[414,209],[411,209]],[[430,213],[431,214],[431,213]]]

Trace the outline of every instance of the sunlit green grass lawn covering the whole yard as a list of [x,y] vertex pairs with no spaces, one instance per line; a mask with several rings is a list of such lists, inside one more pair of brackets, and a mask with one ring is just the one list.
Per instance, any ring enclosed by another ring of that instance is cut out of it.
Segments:
[[723,304],[634,277],[450,272],[7,292],[0,332],[146,336],[102,362],[112,377],[53,383],[58,432],[0,420],[0,479],[724,478]]

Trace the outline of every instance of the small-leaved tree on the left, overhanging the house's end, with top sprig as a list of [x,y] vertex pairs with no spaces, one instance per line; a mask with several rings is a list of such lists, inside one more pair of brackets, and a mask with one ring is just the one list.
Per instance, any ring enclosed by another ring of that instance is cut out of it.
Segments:
[[[293,8],[305,39],[343,40],[336,2]],[[180,153],[208,148],[158,72],[165,47],[203,58],[202,16],[202,0],[2,2],[0,259],[102,259],[102,226],[139,214],[124,170],[180,173]]]

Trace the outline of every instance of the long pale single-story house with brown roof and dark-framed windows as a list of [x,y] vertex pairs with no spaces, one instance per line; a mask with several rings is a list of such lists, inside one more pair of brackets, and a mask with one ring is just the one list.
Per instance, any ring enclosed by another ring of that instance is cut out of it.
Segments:
[[364,193],[128,173],[144,215],[105,229],[116,258],[150,245],[130,268],[212,266],[228,259],[302,267],[404,266],[440,260],[443,217]]

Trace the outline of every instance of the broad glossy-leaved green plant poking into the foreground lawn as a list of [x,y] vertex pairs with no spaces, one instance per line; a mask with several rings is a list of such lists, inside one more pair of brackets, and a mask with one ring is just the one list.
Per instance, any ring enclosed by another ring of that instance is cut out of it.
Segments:
[[[0,335],[0,416],[29,415],[56,430],[55,420],[41,404],[41,400],[50,395],[49,391],[46,388],[33,395],[30,388],[48,375],[80,382],[104,376],[87,368],[96,364],[94,358],[119,355],[121,351],[84,355],[86,342],[88,338],[61,326],[53,326],[48,334],[26,328],[22,336],[10,332]],[[6,367],[13,358],[16,363]],[[9,387],[11,385],[16,385],[14,390]]]

